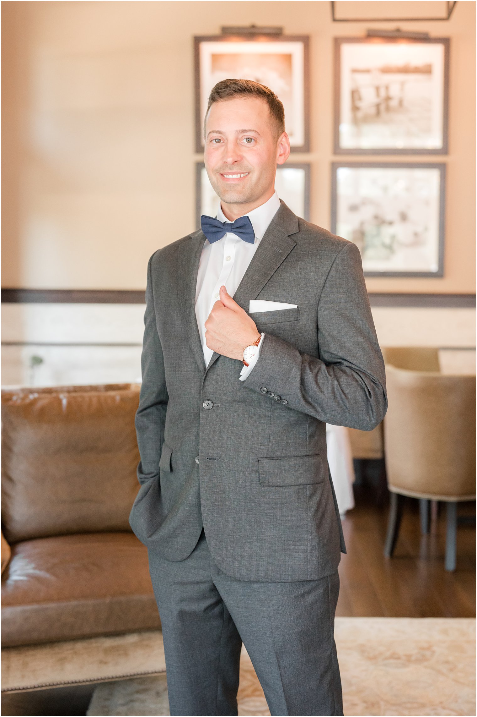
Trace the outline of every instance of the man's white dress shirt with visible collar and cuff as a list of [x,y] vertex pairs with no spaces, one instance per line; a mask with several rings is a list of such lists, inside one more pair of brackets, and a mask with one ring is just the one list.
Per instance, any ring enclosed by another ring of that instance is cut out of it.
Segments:
[[[196,318],[206,366],[211,360],[213,350],[208,348],[206,344],[205,323],[214,303],[220,299],[219,289],[224,285],[228,294],[233,297],[261,242],[261,238],[264,236],[279,207],[280,200],[275,192],[264,204],[252,209],[248,214],[244,214],[245,217],[249,217],[251,225],[254,227],[254,244],[244,242],[244,239],[231,232],[227,232],[218,242],[211,244],[208,239],[204,242],[196,284]],[[220,202],[216,218],[221,222],[230,221],[223,214]],[[264,336],[265,333],[262,331],[258,351],[252,357],[249,366],[245,366],[245,364],[242,366],[239,376],[241,381],[245,381],[254,368],[256,361],[258,361]]]

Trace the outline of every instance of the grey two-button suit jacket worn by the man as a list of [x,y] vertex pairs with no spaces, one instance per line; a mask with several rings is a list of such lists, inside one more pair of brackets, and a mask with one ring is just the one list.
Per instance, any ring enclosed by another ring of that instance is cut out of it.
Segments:
[[385,369],[352,242],[281,201],[233,299],[297,304],[254,313],[265,336],[243,364],[206,367],[195,313],[199,230],[148,263],[143,384],[135,417],[142,484],[130,526],[148,549],[185,559],[202,526],[213,560],[242,580],[312,580],[345,552],[325,422],[374,428]]

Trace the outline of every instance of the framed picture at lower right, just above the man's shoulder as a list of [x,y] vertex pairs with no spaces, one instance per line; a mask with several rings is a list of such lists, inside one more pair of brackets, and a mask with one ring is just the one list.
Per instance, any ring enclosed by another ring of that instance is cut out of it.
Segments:
[[332,164],[332,232],[367,276],[443,276],[445,165]]

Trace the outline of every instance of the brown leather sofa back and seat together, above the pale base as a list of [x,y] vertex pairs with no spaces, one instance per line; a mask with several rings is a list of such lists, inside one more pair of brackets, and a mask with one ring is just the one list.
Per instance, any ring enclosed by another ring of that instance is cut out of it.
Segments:
[[139,388],[2,390],[2,646],[160,627],[128,523]]

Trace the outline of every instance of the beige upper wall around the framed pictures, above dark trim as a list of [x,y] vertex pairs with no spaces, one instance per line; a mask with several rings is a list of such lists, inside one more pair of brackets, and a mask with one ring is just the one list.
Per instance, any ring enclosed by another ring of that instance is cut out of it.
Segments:
[[[332,39],[371,23],[332,23],[327,1],[4,1],[1,14],[4,287],[143,289],[153,251],[196,228],[193,36],[222,25],[310,34],[312,152],[294,157],[312,163],[311,219],[329,227]],[[448,166],[445,276],[368,290],[473,293],[475,3],[399,24],[451,38],[449,155],[415,157]]]

